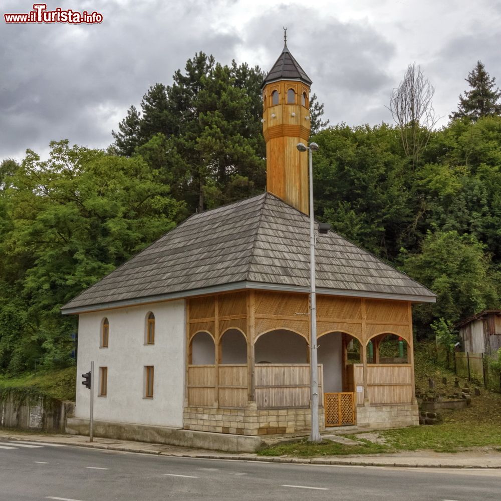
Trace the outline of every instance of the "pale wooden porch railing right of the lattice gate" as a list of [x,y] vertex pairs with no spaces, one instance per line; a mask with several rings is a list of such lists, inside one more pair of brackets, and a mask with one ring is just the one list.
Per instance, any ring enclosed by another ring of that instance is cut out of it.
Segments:
[[[357,404],[364,403],[364,370],[362,364],[354,364],[354,391]],[[371,404],[411,403],[412,366],[410,364],[367,365],[367,395]]]

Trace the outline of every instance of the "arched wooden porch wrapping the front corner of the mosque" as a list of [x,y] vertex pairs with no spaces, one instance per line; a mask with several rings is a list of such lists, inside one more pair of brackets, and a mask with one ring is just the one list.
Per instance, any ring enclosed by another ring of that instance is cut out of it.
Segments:
[[[333,364],[318,367],[321,427],[355,424],[357,409],[364,407],[413,408],[410,303],[319,296],[317,308],[319,343],[322,345],[323,336],[339,338],[343,353],[335,368],[342,379],[337,391],[326,389],[324,384],[325,372],[332,371]],[[308,428],[310,323],[306,294],[249,290],[190,299],[187,310],[186,428],[242,434],[292,433]],[[284,330],[306,341],[304,353],[299,352],[303,360],[276,363],[270,352],[267,363],[257,363],[261,336]],[[228,346],[224,336],[230,331],[233,337],[228,339],[233,344]],[[212,357],[213,363],[197,363],[193,341],[200,333],[206,338],[206,361]],[[379,344],[387,334],[405,341],[408,363],[378,363],[384,358],[380,360]],[[358,343],[359,363],[348,360],[350,340]],[[239,355],[233,346],[236,342],[241,344]],[[228,353],[246,363],[226,363]]]

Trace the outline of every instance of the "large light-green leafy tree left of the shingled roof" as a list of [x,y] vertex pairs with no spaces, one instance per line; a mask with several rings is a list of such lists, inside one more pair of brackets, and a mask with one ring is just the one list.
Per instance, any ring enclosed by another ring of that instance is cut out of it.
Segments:
[[28,150],[2,197],[0,371],[68,360],[75,319],[60,307],[172,228],[182,204],[140,157],[68,141]]

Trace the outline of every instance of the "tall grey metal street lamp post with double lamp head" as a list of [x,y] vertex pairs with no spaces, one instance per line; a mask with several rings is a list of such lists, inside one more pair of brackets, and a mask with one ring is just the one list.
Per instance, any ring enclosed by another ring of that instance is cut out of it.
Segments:
[[317,297],[315,289],[315,233],[313,214],[313,161],[312,151],[318,151],[317,143],[309,146],[299,143],[299,151],[308,150],[309,159],[309,184],[310,184],[310,401],[312,412],[312,429],[310,442],[321,442],[318,423],[318,363],[317,363]]

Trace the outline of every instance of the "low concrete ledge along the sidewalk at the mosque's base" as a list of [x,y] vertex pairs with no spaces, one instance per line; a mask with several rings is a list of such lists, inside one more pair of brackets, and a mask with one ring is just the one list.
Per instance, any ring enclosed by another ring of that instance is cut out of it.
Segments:
[[[88,435],[89,420],[76,417],[68,418],[66,421],[66,433]],[[260,437],[107,421],[94,421],[93,433],[95,436],[119,440],[164,443],[168,445],[180,445],[182,447],[223,450],[226,452],[255,452],[261,446]]]

